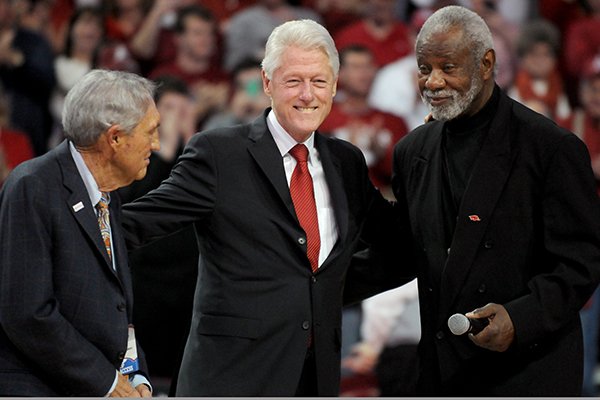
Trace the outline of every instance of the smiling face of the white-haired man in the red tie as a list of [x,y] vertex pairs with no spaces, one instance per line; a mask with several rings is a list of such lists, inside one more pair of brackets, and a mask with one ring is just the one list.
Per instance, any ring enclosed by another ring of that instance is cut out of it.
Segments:
[[277,121],[297,142],[304,142],[331,111],[337,79],[325,52],[287,48],[272,79],[263,71],[263,88]]

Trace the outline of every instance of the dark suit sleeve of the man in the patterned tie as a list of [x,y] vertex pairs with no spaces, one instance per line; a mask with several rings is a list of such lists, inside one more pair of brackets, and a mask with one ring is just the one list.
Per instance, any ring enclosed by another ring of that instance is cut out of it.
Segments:
[[[103,396],[115,367],[67,321],[53,285],[52,208],[47,183],[7,182],[0,195],[0,325],[28,362],[66,393]],[[93,316],[92,316],[93,318]]]

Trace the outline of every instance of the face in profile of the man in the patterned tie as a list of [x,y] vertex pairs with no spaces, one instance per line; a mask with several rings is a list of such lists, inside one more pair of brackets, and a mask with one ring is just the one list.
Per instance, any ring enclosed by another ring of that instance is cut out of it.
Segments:
[[146,176],[150,154],[160,149],[159,123],[160,115],[152,103],[140,123],[129,134],[119,132],[115,165],[121,175],[120,180],[128,182],[126,184]]

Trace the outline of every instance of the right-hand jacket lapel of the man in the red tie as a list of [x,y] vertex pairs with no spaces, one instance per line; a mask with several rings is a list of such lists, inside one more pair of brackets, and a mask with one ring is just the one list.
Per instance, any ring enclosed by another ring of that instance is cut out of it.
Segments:
[[[321,158],[321,165],[325,173],[327,186],[329,187],[329,195],[331,196],[331,206],[335,213],[335,221],[338,227],[338,240],[334,245],[331,253],[319,268],[319,271],[326,268],[330,263],[329,260],[336,258],[337,253],[344,248],[346,237],[348,235],[348,199],[344,190],[344,179],[342,175],[342,163],[338,157],[329,151],[327,139],[321,134],[315,133],[315,147]],[[341,245],[338,245],[341,244]]]

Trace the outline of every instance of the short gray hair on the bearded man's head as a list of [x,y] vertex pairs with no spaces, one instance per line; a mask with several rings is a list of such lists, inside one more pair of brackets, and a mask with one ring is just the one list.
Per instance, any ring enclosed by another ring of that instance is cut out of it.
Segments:
[[419,31],[416,40],[418,49],[423,41],[429,41],[432,35],[449,32],[459,28],[465,39],[465,45],[479,62],[488,50],[494,49],[494,40],[487,24],[475,12],[461,6],[447,6],[433,13]]

